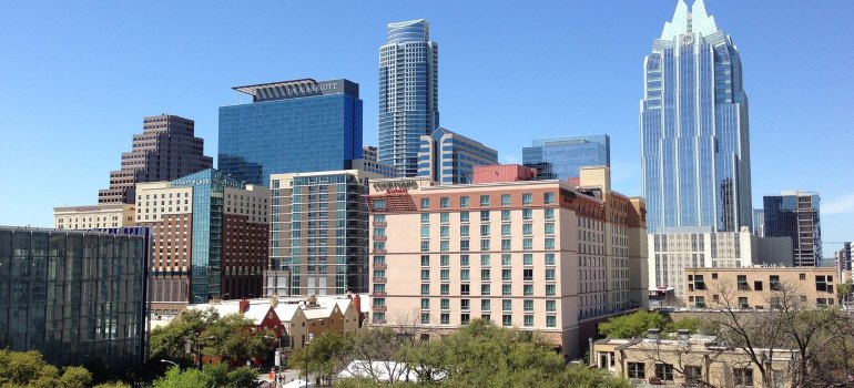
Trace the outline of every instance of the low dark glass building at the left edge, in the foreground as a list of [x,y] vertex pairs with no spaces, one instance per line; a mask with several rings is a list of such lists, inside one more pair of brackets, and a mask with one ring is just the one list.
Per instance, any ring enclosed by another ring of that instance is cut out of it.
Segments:
[[0,226],[0,348],[114,372],[143,361],[146,237]]

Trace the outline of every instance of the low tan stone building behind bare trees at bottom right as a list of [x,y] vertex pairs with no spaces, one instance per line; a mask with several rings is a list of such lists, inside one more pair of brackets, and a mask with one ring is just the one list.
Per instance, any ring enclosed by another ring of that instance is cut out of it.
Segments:
[[[763,387],[750,355],[711,336],[660,338],[655,329],[645,339],[608,338],[593,344],[591,364],[629,379],[632,386]],[[758,349],[769,361],[774,387],[792,385],[790,371],[799,359],[792,349]]]

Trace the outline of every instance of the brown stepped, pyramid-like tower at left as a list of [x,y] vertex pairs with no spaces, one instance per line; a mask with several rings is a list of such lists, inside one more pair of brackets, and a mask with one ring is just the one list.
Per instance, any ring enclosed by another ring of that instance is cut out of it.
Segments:
[[142,133],[133,135],[131,152],[122,153],[122,167],[110,172],[110,188],[98,193],[99,204],[132,204],[136,183],[176,180],[211,169],[204,140],[195,136],[190,119],[162,114],[143,119]]

